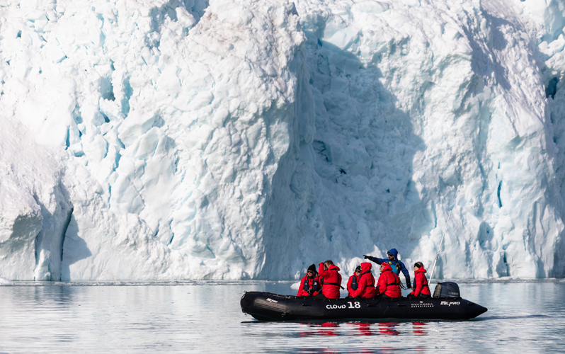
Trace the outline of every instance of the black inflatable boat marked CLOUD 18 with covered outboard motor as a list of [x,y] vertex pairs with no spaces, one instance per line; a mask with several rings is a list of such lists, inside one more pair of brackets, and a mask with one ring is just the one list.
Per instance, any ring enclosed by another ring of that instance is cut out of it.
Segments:
[[455,282],[435,287],[430,299],[313,299],[270,292],[245,292],[241,310],[260,321],[472,319],[486,308],[460,297]]

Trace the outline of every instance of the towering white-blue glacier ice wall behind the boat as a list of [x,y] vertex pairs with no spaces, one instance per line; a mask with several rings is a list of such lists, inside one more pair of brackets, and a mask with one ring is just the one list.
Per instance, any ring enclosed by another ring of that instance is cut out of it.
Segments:
[[6,0],[0,277],[565,276],[563,0]]

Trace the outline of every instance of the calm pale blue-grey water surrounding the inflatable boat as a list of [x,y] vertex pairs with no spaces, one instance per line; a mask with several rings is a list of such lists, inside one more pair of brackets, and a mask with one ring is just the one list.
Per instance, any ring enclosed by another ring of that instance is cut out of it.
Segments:
[[472,321],[261,323],[244,290],[290,282],[0,287],[0,353],[540,353],[565,351],[565,281],[460,282]]

